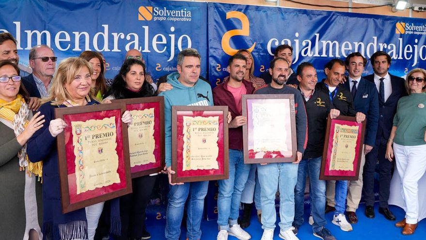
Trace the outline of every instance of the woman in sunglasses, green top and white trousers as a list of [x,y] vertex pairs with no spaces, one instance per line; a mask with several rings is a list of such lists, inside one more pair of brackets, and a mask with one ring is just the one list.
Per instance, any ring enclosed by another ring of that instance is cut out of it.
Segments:
[[[426,70],[415,68],[407,74],[408,96],[398,101],[394,126],[386,147],[386,159],[395,156],[405,218],[396,223],[403,235],[414,233],[419,220],[418,181],[426,171]],[[396,176],[395,176],[396,177]],[[423,199],[422,199],[423,201]]]

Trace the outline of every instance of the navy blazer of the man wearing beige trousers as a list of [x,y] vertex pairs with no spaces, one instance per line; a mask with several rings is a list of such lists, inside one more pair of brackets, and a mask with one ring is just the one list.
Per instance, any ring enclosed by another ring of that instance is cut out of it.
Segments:
[[[344,86],[350,90],[349,77]],[[364,144],[374,146],[379,125],[379,93],[374,83],[361,78],[357,84],[353,107],[356,112],[362,112],[366,117]]]

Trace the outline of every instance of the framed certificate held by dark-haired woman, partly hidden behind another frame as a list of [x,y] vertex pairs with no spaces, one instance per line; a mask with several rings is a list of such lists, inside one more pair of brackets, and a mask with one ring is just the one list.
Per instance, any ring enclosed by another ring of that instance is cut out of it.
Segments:
[[132,178],[158,173],[164,168],[164,97],[112,100],[124,102],[132,113],[127,128]]

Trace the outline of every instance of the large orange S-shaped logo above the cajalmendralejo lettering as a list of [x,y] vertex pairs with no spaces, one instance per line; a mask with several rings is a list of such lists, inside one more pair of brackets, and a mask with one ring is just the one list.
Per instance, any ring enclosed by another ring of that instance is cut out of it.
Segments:
[[[225,32],[225,34],[223,34],[222,36],[222,49],[226,54],[230,56],[234,55],[238,51],[238,49],[231,48],[231,46],[229,45],[229,41],[231,37],[237,36],[237,35],[248,36],[250,33],[250,23],[248,21],[247,16],[245,16],[245,14],[243,14],[242,12],[237,12],[237,11],[231,11],[227,13],[227,19],[234,18],[234,17],[240,19],[242,23],[242,29],[229,30],[228,32]],[[247,50],[249,52],[252,52],[255,46],[256,46],[256,43],[254,43],[251,46],[251,48]]]

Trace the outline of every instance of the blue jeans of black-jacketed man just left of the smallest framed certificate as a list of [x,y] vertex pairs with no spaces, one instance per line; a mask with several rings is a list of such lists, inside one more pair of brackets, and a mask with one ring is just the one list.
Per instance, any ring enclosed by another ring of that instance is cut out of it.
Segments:
[[306,183],[306,170],[309,174],[309,197],[311,198],[312,217],[314,224],[312,229],[315,232],[321,230],[327,224],[325,220],[325,180],[320,180],[321,157],[312,159],[302,159],[299,163],[297,174],[297,184],[294,189],[294,224],[303,224],[304,211],[304,190]]

